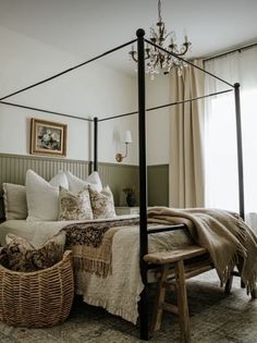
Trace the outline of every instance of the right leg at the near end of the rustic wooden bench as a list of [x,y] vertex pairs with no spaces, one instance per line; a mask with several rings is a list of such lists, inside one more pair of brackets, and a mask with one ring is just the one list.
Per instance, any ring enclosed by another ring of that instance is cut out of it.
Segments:
[[181,342],[191,342],[189,315],[187,305],[185,270],[183,260],[175,264],[175,282],[178,290],[178,306],[181,328]]

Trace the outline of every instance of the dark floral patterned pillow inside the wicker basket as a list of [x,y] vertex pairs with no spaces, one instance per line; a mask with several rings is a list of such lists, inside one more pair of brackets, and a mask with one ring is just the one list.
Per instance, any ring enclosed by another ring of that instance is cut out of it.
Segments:
[[62,259],[65,233],[59,232],[39,248],[11,233],[7,235],[5,241],[3,250],[8,255],[9,269],[29,272],[52,267]]

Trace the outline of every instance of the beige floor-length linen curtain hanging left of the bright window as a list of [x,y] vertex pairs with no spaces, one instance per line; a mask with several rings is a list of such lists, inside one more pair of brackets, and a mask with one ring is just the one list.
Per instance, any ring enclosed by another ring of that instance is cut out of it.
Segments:
[[[203,68],[203,60],[194,64]],[[204,72],[187,65],[180,76],[171,74],[171,101],[203,96]],[[204,207],[203,100],[171,107],[170,207]]]

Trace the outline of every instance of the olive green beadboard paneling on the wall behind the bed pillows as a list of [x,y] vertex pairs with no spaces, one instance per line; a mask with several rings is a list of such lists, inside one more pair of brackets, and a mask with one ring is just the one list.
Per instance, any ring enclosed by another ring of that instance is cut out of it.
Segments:
[[[3,182],[24,185],[28,169],[34,170],[47,181],[59,171],[70,171],[81,179],[86,179],[91,170],[91,163],[81,160],[0,154],[0,185]],[[99,163],[98,172],[102,184],[109,185],[112,189],[117,206],[125,205],[122,188],[131,185],[138,189],[137,166]]]

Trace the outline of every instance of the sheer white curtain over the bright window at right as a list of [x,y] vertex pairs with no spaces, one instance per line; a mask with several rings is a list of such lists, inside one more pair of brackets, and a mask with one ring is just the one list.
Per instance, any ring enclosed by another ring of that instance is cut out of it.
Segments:
[[[209,60],[205,69],[241,84],[245,210],[257,211],[257,47]],[[229,87],[205,77],[206,93]],[[211,97],[205,106],[206,206],[238,210],[234,94]]]

